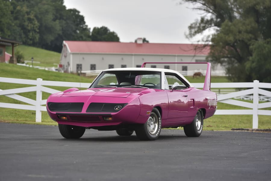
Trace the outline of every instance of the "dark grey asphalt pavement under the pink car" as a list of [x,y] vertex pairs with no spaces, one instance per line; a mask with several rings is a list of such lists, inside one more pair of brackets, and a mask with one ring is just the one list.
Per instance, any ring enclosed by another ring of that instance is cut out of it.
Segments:
[[0,123],[0,181],[271,180],[271,133],[161,131],[155,141],[86,130],[64,139],[57,126]]

